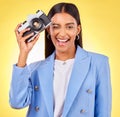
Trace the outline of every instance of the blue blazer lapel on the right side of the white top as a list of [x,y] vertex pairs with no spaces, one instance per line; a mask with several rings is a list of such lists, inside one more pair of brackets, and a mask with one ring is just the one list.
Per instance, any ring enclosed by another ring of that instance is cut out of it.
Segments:
[[69,112],[69,109],[72,106],[72,103],[86,78],[86,75],[89,70],[89,66],[90,66],[90,57],[88,57],[86,51],[78,47],[71,78],[68,85],[67,94],[66,94],[66,99],[63,109],[63,117],[66,117],[67,113]]

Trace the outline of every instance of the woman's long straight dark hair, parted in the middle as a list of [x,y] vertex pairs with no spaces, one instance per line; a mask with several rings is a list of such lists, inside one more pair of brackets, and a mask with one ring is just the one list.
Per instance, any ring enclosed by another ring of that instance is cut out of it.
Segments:
[[[54,5],[48,13],[48,18],[51,19],[56,13],[61,13],[61,12],[70,14],[72,17],[74,17],[76,19],[77,24],[81,26],[79,11],[78,11],[77,7],[72,3],[62,2],[62,3],[58,3],[58,4]],[[78,35],[79,35],[79,39],[77,39],[77,37],[76,37],[75,46],[77,47],[77,45],[79,45],[82,48],[83,47],[83,45],[82,45],[82,27],[81,27],[81,31]],[[50,39],[50,36],[48,38],[47,30],[45,30],[45,58],[47,58],[49,55],[51,55],[54,50],[55,50],[55,47]]]

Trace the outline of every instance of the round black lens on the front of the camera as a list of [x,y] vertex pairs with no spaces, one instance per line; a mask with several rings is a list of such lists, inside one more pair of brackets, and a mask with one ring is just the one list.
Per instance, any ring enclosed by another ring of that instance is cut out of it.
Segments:
[[33,28],[36,31],[39,31],[42,28],[42,21],[38,18],[34,18],[31,21],[31,28]]

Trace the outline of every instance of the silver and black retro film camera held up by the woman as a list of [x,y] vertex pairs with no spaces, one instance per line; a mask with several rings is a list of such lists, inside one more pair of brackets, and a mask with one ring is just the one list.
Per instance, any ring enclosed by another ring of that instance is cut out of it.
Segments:
[[30,42],[34,39],[34,37],[39,33],[46,29],[51,24],[50,19],[45,15],[44,12],[38,10],[36,14],[29,15],[27,20],[23,22],[22,26],[18,29],[18,31],[22,31],[23,29],[30,28],[29,31],[23,33],[23,37],[34,33],[33,36],[26,39],[26,42]]

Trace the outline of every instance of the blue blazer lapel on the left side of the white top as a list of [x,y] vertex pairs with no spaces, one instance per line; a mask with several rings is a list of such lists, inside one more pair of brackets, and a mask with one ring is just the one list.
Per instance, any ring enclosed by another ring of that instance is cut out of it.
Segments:
[[47,58],[43,65],[38,68],[41,90],[49,117],[53,117],[53,68],[54,54]]

